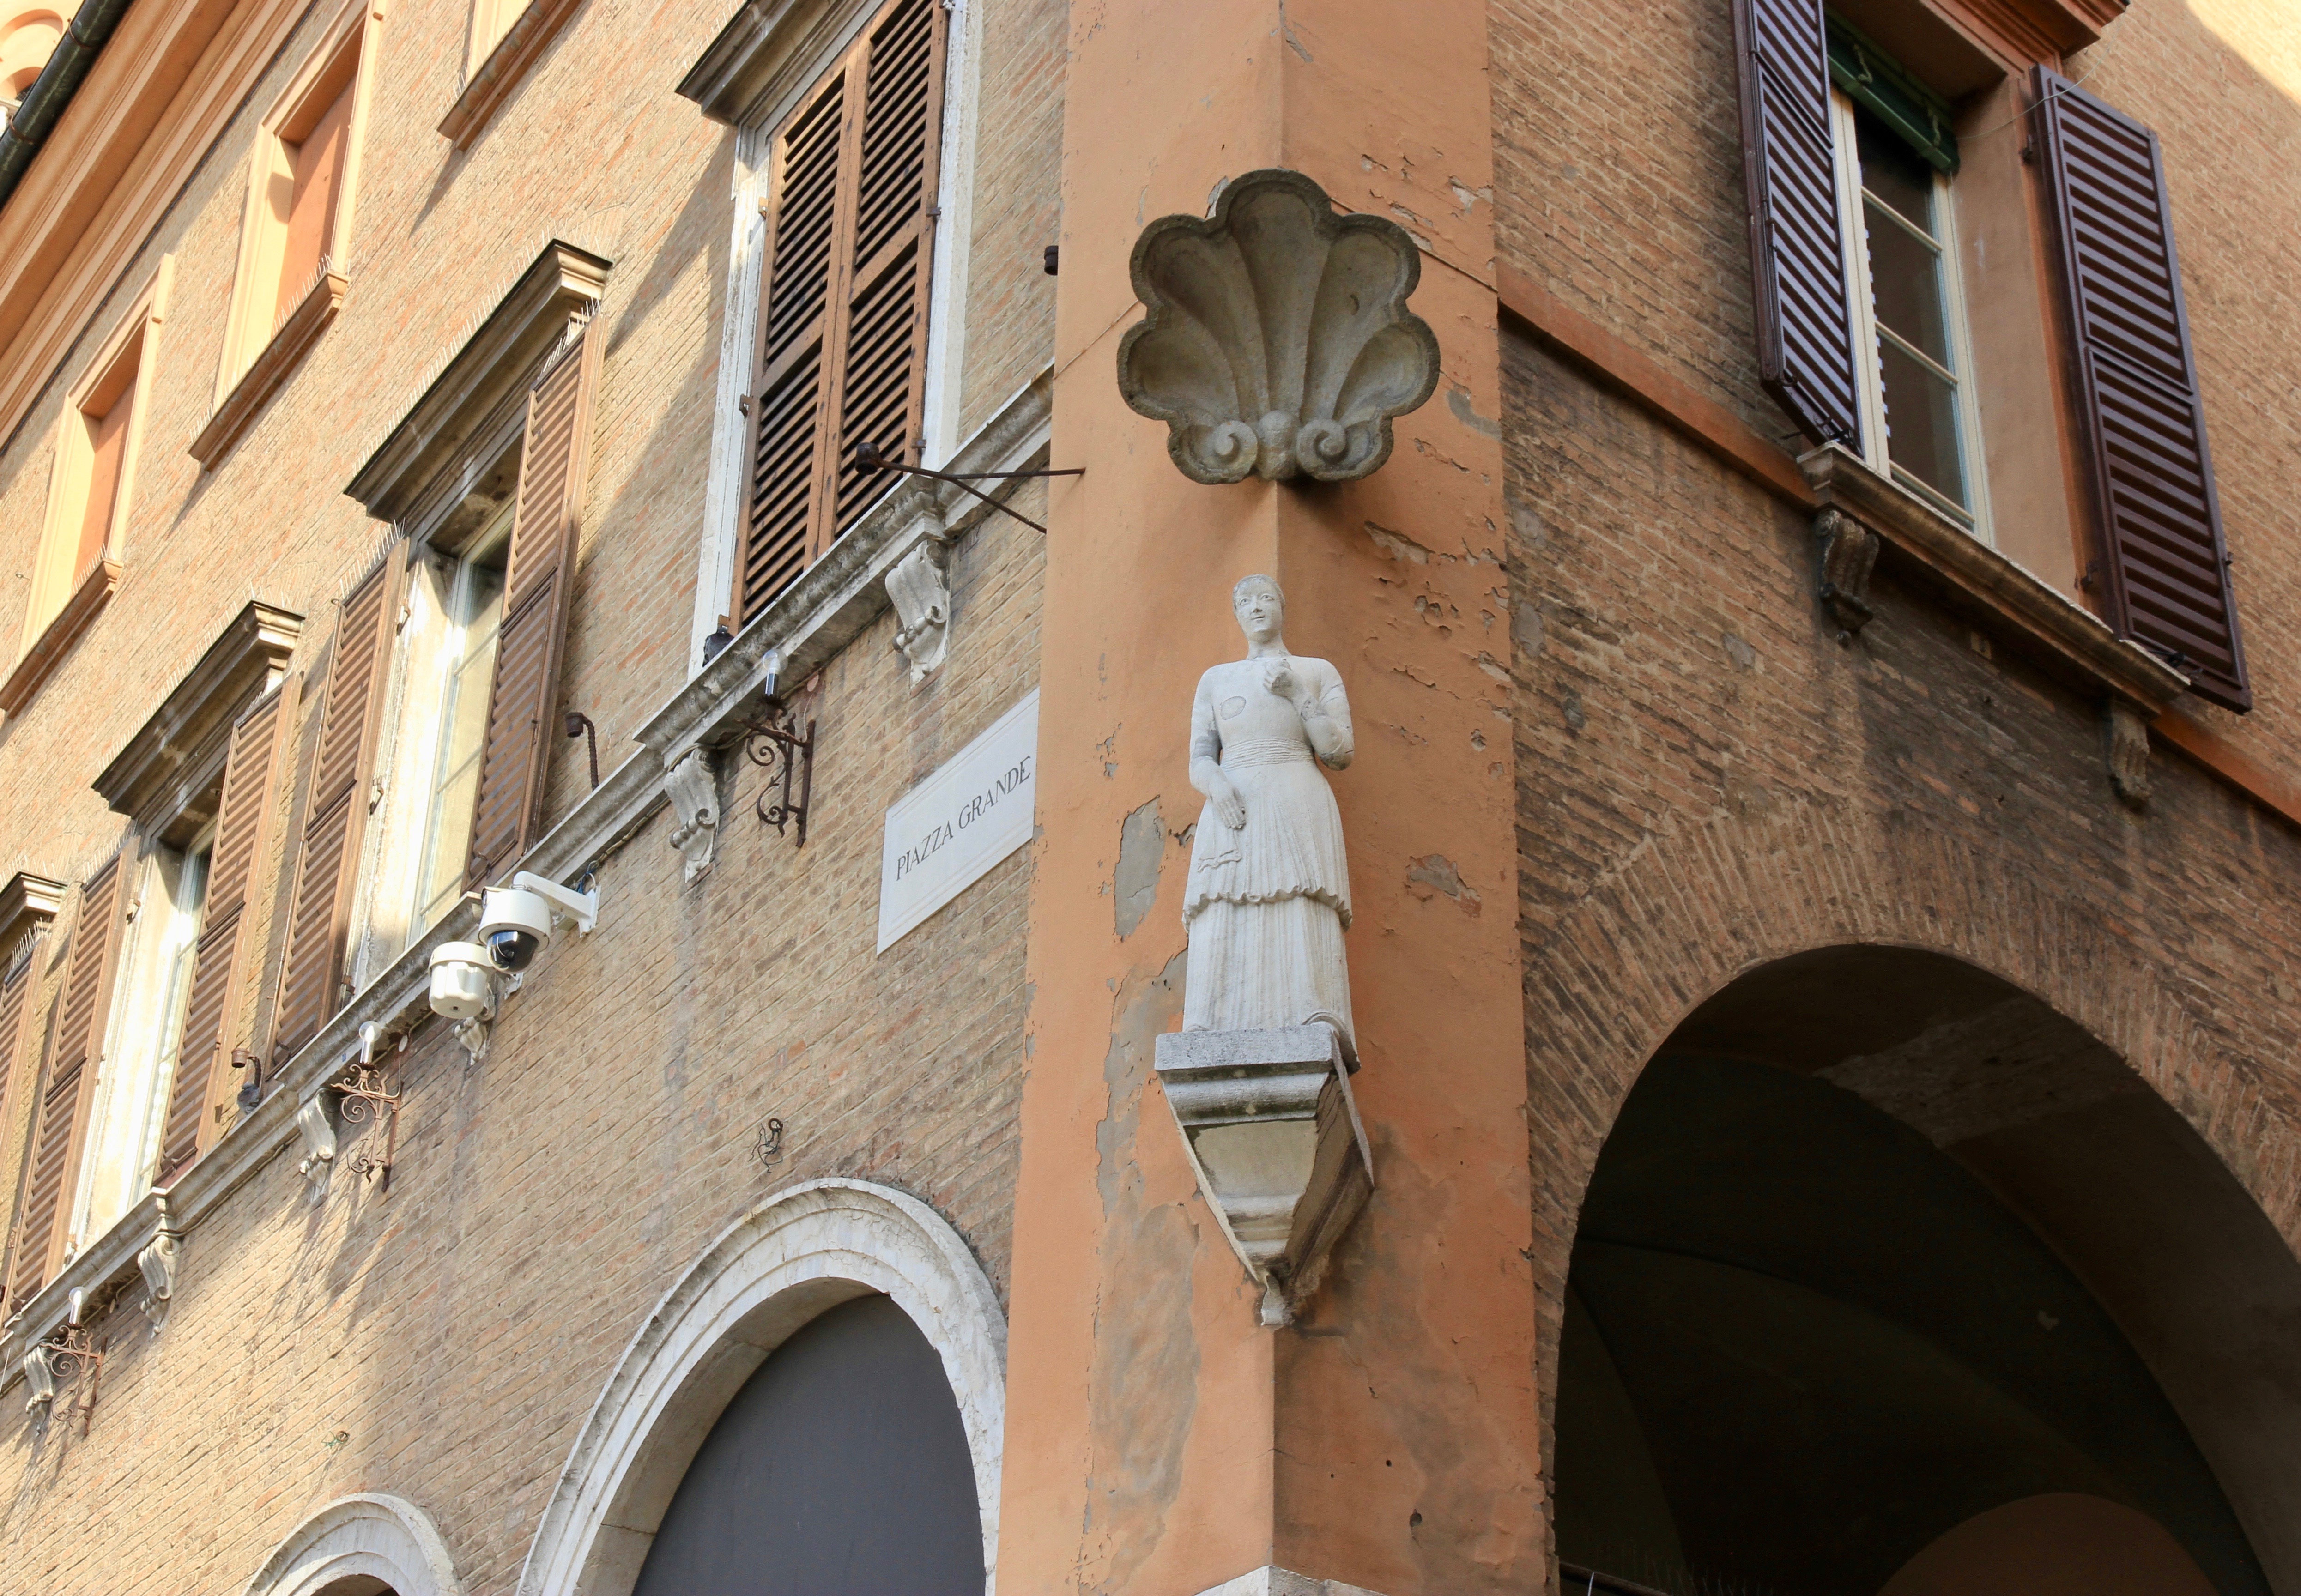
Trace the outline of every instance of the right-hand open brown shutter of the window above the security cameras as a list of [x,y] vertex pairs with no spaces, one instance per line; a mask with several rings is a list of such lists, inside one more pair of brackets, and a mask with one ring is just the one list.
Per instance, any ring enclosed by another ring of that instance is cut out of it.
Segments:
[[504,623],[472,800],[465,885],[483,885],[527,853],[541,830],[543,764],[559,692],[559,653],[575,582],[575,531],[591,460],[591,389],[601,338],[582,329],[527,393],[520,497],[511,513]]

